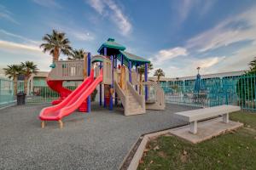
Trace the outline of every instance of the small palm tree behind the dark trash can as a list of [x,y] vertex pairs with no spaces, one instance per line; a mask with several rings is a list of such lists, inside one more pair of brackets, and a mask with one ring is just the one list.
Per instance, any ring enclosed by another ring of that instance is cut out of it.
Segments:
[[32,61],[26,61],[25,63],[21,62],[20,66],[24,70],[24,92],[26,94],[27,81],[32,76],[32,74],[38,73],[38,65],[35,65]]

